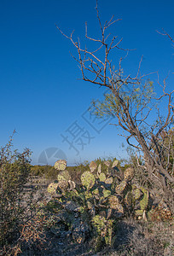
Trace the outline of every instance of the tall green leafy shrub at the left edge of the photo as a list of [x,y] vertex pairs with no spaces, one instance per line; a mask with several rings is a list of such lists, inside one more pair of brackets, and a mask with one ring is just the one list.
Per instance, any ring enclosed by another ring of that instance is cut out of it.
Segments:
[[22,197],[30,173],[31,152],[13,150],[13,136],[0,148],[0,247],[14,239],[24,216]]

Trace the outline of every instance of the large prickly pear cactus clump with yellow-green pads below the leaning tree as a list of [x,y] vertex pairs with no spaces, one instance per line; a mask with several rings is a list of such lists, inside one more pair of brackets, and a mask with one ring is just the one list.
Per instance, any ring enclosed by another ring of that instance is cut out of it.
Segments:
[[[69,173],[62,170],[65,167],[60,167],[62,162],[57,163],[57,170],[62,172],[57,176],[58,183],[51,183],[48,191],[51,194],[59,192],[57,197],[61,196],[60,206],[65,205],[67,201],[78,205],[78,212],[74,210],[75,215],[67,211],[67,215],[80,216],[83,220],[73,224],[73,240],[84,242],[87,234],[84,224],[88,223],[89,232],[94,234],[96,230],[96,244],[102,247],[103,243],[111,245],[113,223],[118,218],[123,218],[125,212],[133,213],[136,218],[146,219],[149,192],[138,184],[132,184],[132,168],[127,168],[123,177],[118,168],[119,160],[114,160],[113,163],[111,160],[98,161],[98,166],[96,162],[92,161],[90,170],[81,175],[81,184],[72,181]],[[66,211],[65,208],[63,210]],[[76,218],[71,217],[75,222]]]

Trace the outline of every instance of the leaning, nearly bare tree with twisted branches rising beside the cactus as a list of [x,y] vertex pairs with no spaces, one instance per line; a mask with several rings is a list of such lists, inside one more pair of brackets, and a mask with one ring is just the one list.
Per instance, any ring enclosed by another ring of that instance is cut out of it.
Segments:
[[[102,26],[97,1],[96,13],[101,38],[91,38],[88,35],[87,23],[85,24],[85,38],[96,44],[94,50],[83,48],[79,38],[77,42],[73,39],[73,32],[67,36],[58,26],[57,28],[78,50],[78,57],[73,57],[78,61],[82,79],[108,89],[103,102],[94,102],[96,114],[99,116],[112,114],[117,119],[117,123],[113,125],[119,125],[125,131],[127,143],[142,152],[144,168],[148,172],[149,179],[163,189],[165,198],[169,198],[168,184],[174,183],[172,130],[174,90],[167,92],[166,79],[163,84],[160,84],[158,79],[162,93],[157,97],[153,82],[147,79],[147,75],[140,74],[142,59],[134,77],[131,74],[125,76],[123,73],[123,58],[119,59],[118,68],[115,70],[111,60],[112,52],[120,49],[127,52],[130,49],[123,49],[120,46],[122,38],[110,38],[107,29],[118,20],[113,20],[112,17]],[[160,113],[161,101],[165,102],[164,117]],[[157,116],[152,122],[155,113]]]

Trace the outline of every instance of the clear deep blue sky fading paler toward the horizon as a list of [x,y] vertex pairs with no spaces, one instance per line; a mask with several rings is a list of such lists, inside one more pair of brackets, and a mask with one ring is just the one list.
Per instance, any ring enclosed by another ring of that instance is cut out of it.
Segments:
[[[174,49],[156,32],[164,28],[174,36],[173,1],[98,2],[102,21],[112,15],[122,19],[112,29],[123,38],[122,46],[136,49],[125,61],[125,72],[135,73],[142,55],[142,73],[159,71],[162,80],[173,72]],[[79,80],[70,55],[73,46],[55,28],[56,23],[67,33],[75,29],[75,36],[83,38],[88,21],[90,35],[97,36],[95,7],[96,0],[0,1],[0,144],[7,143],[15,129],[14,148],[31,148],[33,164],[44,164],[45,159],[53,164],[63,154],[69,165],[125,154],[125,141],[114,126],[89,124],[85,111],[103,91]],[[170,90],[172,81],[171,75]],[[77,125],[75,137],[71,132]],[[72,148],[67,139],[73,140]]]

